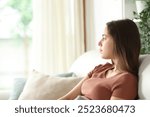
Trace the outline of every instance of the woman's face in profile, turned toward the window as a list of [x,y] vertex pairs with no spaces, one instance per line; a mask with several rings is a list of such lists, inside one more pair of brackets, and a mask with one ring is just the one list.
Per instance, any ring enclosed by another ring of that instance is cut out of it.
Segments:
[[102,58],[113,59],[114,43],[112,36],[107,30],[107,26],[104,29],[104,34],[102,35],[102,39],[99,41],[98,45],[100,47],[100,53]]

